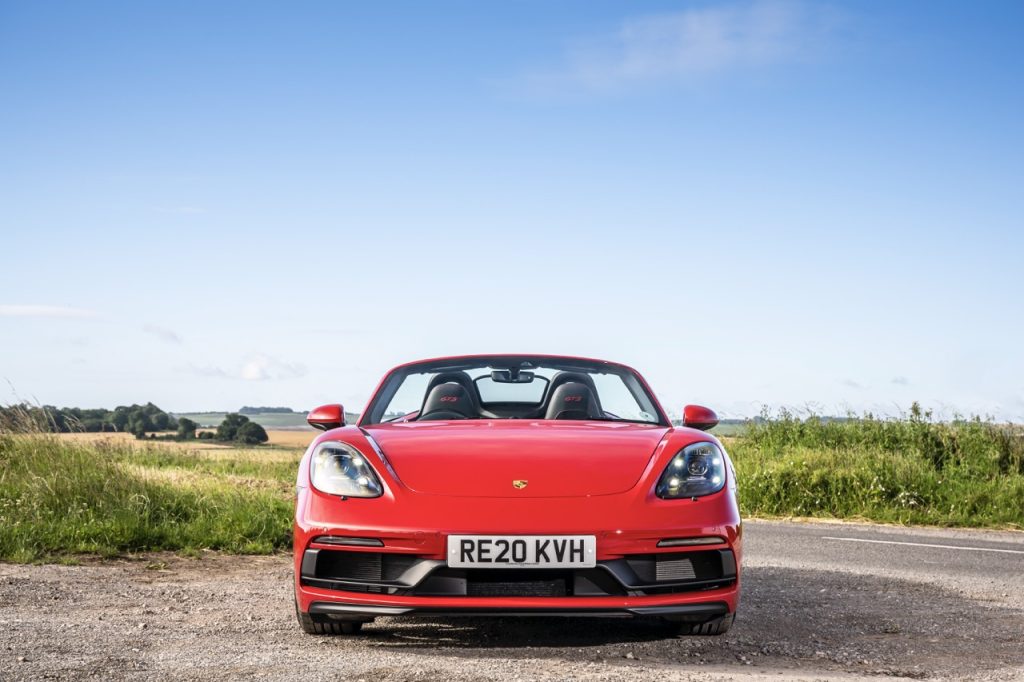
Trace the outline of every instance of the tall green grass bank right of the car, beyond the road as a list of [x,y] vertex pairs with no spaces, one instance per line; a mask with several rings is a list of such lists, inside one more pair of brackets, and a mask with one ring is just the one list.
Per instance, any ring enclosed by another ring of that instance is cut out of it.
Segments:
[[1024,528],[1024,433],[981,419],[790,412],[730,443],[746,514]]

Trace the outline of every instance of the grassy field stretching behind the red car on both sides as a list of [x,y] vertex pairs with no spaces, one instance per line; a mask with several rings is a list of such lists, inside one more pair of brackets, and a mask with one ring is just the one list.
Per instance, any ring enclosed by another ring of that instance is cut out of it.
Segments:
[[[746,516],[1024,528],[1024,434],[927,417],[751,422],[726,437]],[[0,433],[0,559],[290,544],[313,431],[239,447],[127,434]]]

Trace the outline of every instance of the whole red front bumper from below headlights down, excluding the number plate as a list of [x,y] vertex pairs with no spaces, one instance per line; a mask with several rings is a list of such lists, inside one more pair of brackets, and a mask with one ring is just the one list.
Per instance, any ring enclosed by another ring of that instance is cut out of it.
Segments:
[[[693,501],[636,494],[531,500],[407,495],[391,503],[339,501],[302,488],[294,534],[296,601],[300,610],[332,620],[486,613],[707,622],[738,605],[741,530],[729,489]],[[474,534],[594,535],[597,565],[449,567],[447,536]],[[376,546],[341,546],[326,538]],[[693,538],[721,542],[664,544]]]

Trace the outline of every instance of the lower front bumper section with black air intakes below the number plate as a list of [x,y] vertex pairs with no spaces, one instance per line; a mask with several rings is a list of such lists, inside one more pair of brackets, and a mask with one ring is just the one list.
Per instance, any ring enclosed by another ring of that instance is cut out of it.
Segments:
[[311,543],[296,564],[300,609],[332,620],[501,614],[705,622],[734,612],[739,599],[739,567],[728,543],[637,551],[575,569],[460,569],[387,549]]

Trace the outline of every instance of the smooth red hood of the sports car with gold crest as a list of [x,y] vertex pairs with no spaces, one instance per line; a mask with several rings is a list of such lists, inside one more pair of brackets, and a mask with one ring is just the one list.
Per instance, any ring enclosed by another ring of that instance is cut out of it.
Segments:
[[378,424],[365,431],[401,482],[419,493],[552,498],[630,489],[668,429],[628,422],[474,420]]

